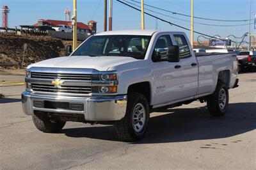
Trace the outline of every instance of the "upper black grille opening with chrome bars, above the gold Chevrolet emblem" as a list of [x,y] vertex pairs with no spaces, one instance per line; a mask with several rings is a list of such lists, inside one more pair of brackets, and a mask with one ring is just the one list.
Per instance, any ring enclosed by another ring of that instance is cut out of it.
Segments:
[[31,72],[31,78],[90,81],[90,80],[92,80],[92,75],[90,75],[90,74],[75,74],[75,73],[39,73],[39,72]]

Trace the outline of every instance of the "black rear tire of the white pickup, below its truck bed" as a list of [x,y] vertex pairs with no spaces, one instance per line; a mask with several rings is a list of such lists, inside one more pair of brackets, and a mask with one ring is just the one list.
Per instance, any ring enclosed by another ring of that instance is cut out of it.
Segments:
[[[225,93],[225,99],[220,97],[220,93]],[[212,116],[223,116],[227,112],[228,88],[224,82],[218,81],[214,93],[207,98],[207,109]]]

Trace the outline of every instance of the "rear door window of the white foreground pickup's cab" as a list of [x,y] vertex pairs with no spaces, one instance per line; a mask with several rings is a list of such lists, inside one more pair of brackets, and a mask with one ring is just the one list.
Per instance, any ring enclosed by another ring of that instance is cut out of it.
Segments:
[[184,35],[173,35],[177,45],[180,48],[180,58],[188,58],[191,56],[188,42]]

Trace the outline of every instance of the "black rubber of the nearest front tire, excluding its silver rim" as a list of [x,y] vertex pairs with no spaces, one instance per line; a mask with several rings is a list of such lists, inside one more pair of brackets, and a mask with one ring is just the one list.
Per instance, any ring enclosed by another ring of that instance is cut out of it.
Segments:
[[[140,130],[140,132],[136,132],[136,130],[134,130],[134,128],[136,127],[133,126],[134,120],[132,118],[133,116],[132,113],[135,109],[134,107],[138,105],[143,105],[144,107],[143,109],[145,109],[145,123],[143,123],[143,127]],[[116,133],[118,137],[122,139],[122,141],[127,141],[127,142],[138,141],[144,137],[147,131],[148,120],[149,120],[149,105],[148,105],[147,98],[141,93],[133,93],[133,92],[129,93],[125,117],[120,121],[116,121],[115,123]]]

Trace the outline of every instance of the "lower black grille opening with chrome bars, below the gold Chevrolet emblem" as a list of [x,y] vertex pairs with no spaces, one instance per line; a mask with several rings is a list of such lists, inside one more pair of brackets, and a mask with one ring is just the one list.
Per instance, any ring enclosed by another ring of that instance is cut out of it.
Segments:
[[60,87],[51,84],[31,84],[33,91],[50,92],[50,93],[76,93],[76,94],[89,94],[92,93],[92,87],[89,86],[65,86]]

